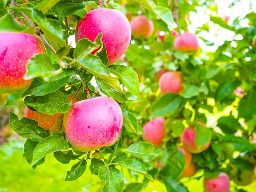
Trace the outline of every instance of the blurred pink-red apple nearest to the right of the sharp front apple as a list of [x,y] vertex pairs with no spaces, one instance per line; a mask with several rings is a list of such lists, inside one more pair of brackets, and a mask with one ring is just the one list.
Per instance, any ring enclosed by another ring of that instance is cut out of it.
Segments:
[[145,132],[142,135],[143,140],[155,146],[161,145],[163,138],[166,136],[164,123],[165,119],[163,117],[157,117],[153,121],[146,123],[143,126],[143,131]]

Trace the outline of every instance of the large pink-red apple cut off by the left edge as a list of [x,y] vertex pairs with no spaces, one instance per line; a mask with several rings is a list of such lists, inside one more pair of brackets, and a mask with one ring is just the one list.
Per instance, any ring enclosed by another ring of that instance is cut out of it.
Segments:
[[39,38],[26,33],[0,33],[0,93],[22,93],[32,79],[25,80],[29,59],[46,53]]

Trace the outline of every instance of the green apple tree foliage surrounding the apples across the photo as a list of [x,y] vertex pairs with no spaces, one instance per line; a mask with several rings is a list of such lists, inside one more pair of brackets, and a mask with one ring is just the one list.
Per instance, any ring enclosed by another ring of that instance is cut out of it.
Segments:
[[[245,157],[254,154],[255,158],[256,153],[253,144],[256,137],[256,14],[251,12],[244,18],[236,18],[232,24],[210,15],[215,25],[234,32],[233,38],[224,41],[215,52],[205,53],[199,49],[197,53],[183,53],[173,48],[175,37],[171,31],[188,31],[189,12],[196,12],[198,6],[217,10],[214,1],[208,2],[171,0],[169,5],[168,0],[103,1],[103,9],[129,12],[131,17],[140,13],[154,23],[151,38],[132,38],[125,61],[116,61],[108,67],[102,34],[94,42],[79,41],[76,48],[66,43],[75,34],[79,19],[91,9],[99,9],[97,0],[17,0],[18,6],[13,1],[2,0],[0,32],[41,33],[55,50],[53,53],[46,44],[47,54],[30,59],[26,76],[34,78],[32,83],[25,92],[9,95],[6,107],[23,99],[24,105],[36,111],[64,113],[71,107],[67,96],[77,93],[79,99],[87,99],[85,93],[91,90],[90,97],[105,95],[116,100],[123,113],[123,128],[116,143],[84,153],[70,145],[63,131],[51,133],[38,126],[35,120],[19,119],[10,112],[11,128],[26,138],[23,156],[27,162],[36,168],[44,163],[47,154],[53,153],[60,163],[73,164],[67,171],[66,181],[76,180],[85,169],[90,169],[105,183],[103,192],[140,191],[155,179],[163,182],[169,192],[187,192],[179,177],[185,167],[185,157],[178,146],[184,128],[194,125],[197,145],[211,141],[207,150],[192,155],[198,179],[216,177],[220,172],[232,177],[233,166],[253,170]],[[177,17],[173,19],[172,12],[176,12],[178,20]],[[31,25],[24,15],[35,25]],[[69,26],[65,17],[69,17]],[[239,20],[245,18],[249,20],[248,27],[239,25]],[[164,41],[155,35],[156,30],[165,32]],[[208,31],[206,23],[196,34]],[[209,47],[214,44],[204,38],[201,40]],[[100,45],[102,48],[90,55]],[[163,63],[166,71],[182,74],[184,90],[177,95],[160,94],[159,80],[155,76]],[[93,76],[98,87],[90,83]],[[242,89],[240,97],[234,93],[237,87]],[[230,106],[233,113],[218,118],[217,126],[207,124],[207,114],[220,113]],[[162,145],[154,147],[142,140],[142,127],[159,116],[166,119],[167,134]],[[198,122],[204,122],[207,128],[202,128]],[[127,178],[124,182],[121,167],[128,169],[133,179]],[[233,187],[236,189],[237,185]]]

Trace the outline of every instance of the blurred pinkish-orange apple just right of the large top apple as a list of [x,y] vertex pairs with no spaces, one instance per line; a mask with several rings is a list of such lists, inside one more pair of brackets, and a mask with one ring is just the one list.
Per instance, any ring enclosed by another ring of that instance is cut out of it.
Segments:
[[135,38],[145,38],[151,37],[154,31],[154,25],[151,20],[144,15],[139,15],[131,20],[131,32]]

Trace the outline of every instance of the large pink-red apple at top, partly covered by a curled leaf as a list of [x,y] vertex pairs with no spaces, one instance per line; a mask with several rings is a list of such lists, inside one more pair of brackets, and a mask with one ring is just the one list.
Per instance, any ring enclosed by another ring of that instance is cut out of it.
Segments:
[[[93,9],[86,13],[76,28],[76,42],[82,38],[94,41],[102,32],[109,65],[116,62],[126,51],[131,41],[131,26],[128,19],[115,9]],[[96,53],[100,47],[91,54]]]

